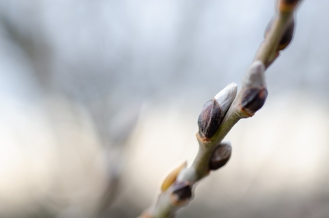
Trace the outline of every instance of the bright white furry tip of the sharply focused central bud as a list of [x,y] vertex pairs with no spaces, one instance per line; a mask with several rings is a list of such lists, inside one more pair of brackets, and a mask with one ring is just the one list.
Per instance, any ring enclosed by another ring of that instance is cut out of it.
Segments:
[[237,84],[232,82],[228,84],[221,92],[215,95],[215,99],[219,105],[221,105],[222,111],[225,115],[228,108],[231,106],[233,100],[235,99],[237,93]]

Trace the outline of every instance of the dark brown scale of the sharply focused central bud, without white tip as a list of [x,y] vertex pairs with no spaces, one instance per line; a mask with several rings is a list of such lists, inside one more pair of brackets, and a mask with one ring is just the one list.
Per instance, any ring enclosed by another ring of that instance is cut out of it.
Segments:
[[198,119],[200,136],[211,138],[220,126],[223,117],[220,104],[215,99],[207,101]]

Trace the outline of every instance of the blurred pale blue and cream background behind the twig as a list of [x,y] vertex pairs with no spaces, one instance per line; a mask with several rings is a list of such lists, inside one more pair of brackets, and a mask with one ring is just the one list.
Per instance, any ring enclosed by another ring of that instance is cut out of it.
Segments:
[[[312,5],[313,4],[313,5]],[[197,153],[275,1],[0,0],[0,217],[135,217]],[[268,98],[177,217],[329,216],[329,2],[305,0]]]

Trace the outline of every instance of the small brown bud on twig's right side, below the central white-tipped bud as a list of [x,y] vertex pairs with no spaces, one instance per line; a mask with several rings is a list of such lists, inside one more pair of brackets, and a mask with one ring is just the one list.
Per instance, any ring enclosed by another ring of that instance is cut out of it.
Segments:
[[217,170],[229,161],[232,153],[230,142],[222,142],[211,156],[209,169]]

